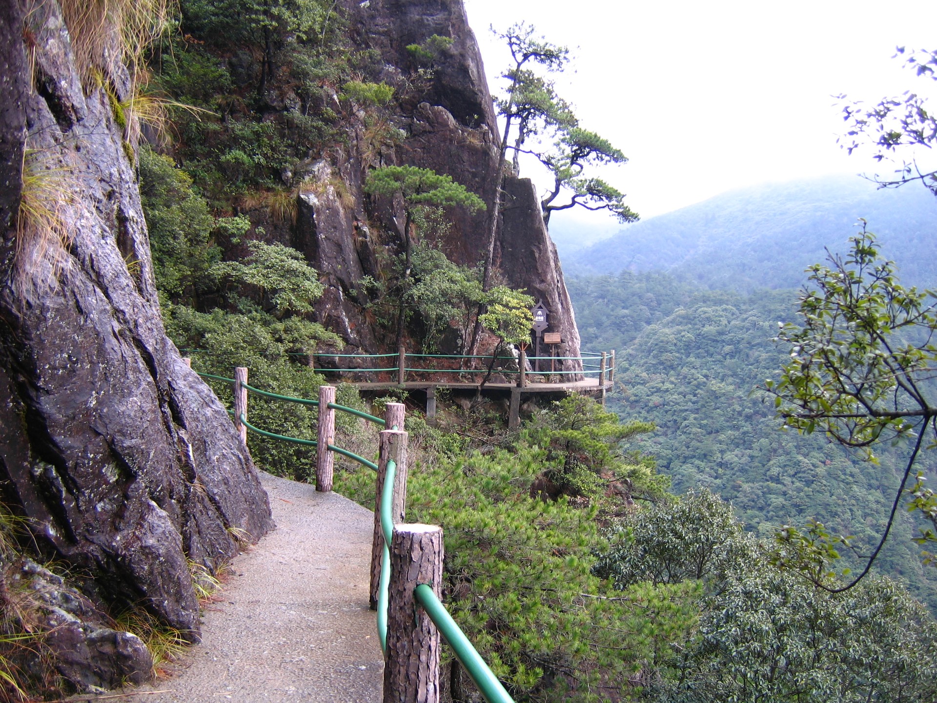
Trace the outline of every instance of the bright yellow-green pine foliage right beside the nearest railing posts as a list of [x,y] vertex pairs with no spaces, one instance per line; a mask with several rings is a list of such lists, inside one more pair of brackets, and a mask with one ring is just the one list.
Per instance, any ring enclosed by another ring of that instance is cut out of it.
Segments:
[[[516,700],[630,699],[637,672],[688,636],[697,588],[612,597],[590,574],[603,545],[595,509],[529,497],[542,457],[524,446],[432,457],[409,470],[407,519],[442,525],[446,605]],[[373,504],[369,472],[335,486]]]

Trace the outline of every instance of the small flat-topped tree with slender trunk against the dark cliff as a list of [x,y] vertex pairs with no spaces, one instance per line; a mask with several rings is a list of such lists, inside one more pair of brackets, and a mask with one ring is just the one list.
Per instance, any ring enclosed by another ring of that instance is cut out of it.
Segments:
[[[452,176],[416,166],[384,166],[375,169],[367,174],[364,192],[391,198],[399,195],[403,200],[406,215],[403,227],[405,293],[409,289],[413,248],[411,229],[414,217],[419,211],[426,207],[465,207],[471,213],[485,209],[483,200],[465,186],[456,183]],[[403,339],[405,315],[401,297],[397,315],[397,344]]]

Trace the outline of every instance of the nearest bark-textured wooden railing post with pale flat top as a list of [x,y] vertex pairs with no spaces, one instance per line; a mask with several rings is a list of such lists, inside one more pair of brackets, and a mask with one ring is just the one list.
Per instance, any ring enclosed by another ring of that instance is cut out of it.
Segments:
[[413,590],[424,583],[439,596],[441,582],[442,528],[397,525],[391,542],[383,703],[439,703],[439,630],[417,605]]

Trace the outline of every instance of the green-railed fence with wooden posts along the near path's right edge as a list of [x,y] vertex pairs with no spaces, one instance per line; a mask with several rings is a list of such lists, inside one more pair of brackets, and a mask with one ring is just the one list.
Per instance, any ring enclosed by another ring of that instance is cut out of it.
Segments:
[[[199,373],[198,371],[196,373]],[[333,454],[348,456],[358,463],[378,473],[380,491],[376,495],[375,505],[376,529],[372,542],[372,570],[371,570],[371,598],[377,609],[377,627],[381,651],[384,654],[384,666],[390,675],[384,678],[384,703],[415,703],[417,698],[427,703],[438,701],[439,698],[439,637],[452,648],[456,659],[465,668],[468,676],[488,703],[514,703],[513,698],[498,681],[498,677],[491,668],[485,664],[482,656],[475,650],[468,637],[453,620],[449,611],[439,600],[437,591],[441,587],[442,574],[442,529],[430,526],[427,531],[425,525],[407,525],[397,523],[395,517],[403,517],[403,504],[406,497],[406,451],[408,433],[404,430],[404,406],[402,403],[388,403],[384,418],[379,418],[368,412],[359,411],[334,402],[335,387],[320,386],[318,400],[311,398],[298,398],[283,396],[250,386],[246,382],[247,369],[235,369],[235,378],[229,379],[213,374],[199,373],[200,376],[215,381],[231,382],[234,391],[235,411],[234,422],[239,428],[241,437],[246,441],[246,431],[250,430],[262,437],[278,441],[290,441],[308,446],[314,446],[318,452],[316,470],[316,489],[331,490],[332,488],[332,462],[323,462],[323,457]],[[300,403],[305,406],[316,406],[319,409],[317,419],[318,440],[306,440],[288,437],[253,426],[247,421],[247,394],[254,393],[259,396],[280,400],[284,402]],[[386,427],[380,432],[379,460],[373,461],[358,456],[347,449],[339,447],[331,441],[323,441],[323,437],[332,438],[335,431],[335,411],[347,412],[355,417],[363,418],[376,425]],[[400,506],[397,515],[394,515],[394,506]],[[426,549],[422,553],[426,563],[414,571],[412,568],[393,568],[392,551],[403,552],[407,559],[411,559],[411,549],[395,548],[399,543],[421,539],[424,534],[430,534],[438,543],[437,549]],[[375,559],[375,557],[378,557]],[[425,567],[425,568],[424,568]],[[435,574],[435,578],[420,578],[413,580],[411,574]],[[408,582],[410,579],[411,582]],[[392,590],[392,584],[394,589]],[[404,613],[392,622],[391,612],[394,610],[390,602],[390,593],[403,593],[402,598],[412,601],[399,604],[395,612]],[[417,611],[417,617],[413,614]],[[409,613],[409,616],[407,615]],[[421,619],[427,619],[433,626],[428,628],[421,624]],[[414,637],[417,631],[420,636]],[[394,639],[394,646],[388,647],[388,638]],[[414,641],[416,642],[413,645]],[[398,670],[421,669],[419,677],[395,677]],[[422,690],[417,690],[415,681],[422,681]],[[432,692],[437,697],[426,694]]]

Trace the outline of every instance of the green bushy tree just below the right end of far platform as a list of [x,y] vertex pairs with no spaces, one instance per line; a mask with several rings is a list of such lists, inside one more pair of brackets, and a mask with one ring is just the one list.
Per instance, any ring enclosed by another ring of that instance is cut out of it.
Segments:
[[621,424],[592,398],[573,395],[535,416],[522,437],[545,450],[545,475],[567,495],[598,500],[617,483],[629,497],[661,498],[669,481],[655,474],[653,459],[622,446],[653,429],[637,420]]

